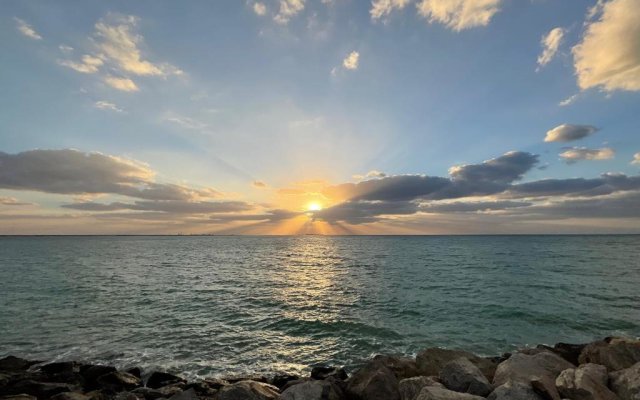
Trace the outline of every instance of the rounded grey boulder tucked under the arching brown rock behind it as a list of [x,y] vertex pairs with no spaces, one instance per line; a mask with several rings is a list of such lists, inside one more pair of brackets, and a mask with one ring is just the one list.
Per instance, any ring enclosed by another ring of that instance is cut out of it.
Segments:
[[440,382],[447,389],[486,397],[493,388],[482,372],[465,357],[449,361],[440,371]]

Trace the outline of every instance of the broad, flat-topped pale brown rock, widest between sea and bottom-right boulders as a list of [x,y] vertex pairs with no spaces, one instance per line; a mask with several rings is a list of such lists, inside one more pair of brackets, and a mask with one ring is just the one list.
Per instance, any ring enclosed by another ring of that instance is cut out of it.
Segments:
[[516,353],[498,365],[493,385],[498,387],[510,380],[529,385],[532,379],[540,377],[548,377],[555,381],[560,372],[573,367],[573,364],[549,351],[531,356]]

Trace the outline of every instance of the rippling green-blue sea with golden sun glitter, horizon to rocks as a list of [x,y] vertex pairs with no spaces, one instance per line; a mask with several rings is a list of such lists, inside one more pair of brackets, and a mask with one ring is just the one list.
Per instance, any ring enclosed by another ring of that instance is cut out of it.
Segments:
[[192,378],[640,336],[640,236],[0,237],[0,356]]

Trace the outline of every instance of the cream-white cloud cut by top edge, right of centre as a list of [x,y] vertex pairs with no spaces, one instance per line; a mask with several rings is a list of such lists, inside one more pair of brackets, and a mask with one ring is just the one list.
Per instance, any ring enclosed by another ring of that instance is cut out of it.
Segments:
[[454,31],[486,26],[500,11],[502,0],[420,0],[418,14]]

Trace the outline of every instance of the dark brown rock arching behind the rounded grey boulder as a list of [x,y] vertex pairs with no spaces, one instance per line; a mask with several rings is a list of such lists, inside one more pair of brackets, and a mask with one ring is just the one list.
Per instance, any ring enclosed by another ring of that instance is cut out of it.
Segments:
[[475,354],[462,350],[448,350],[431,347],[421,351],[416,357],[416,365],[420,375],[439,375],[446,363],[456,358],[465,357],[482,371],[482,374],[491,381],[498,363],[495,359],[478,357]]

